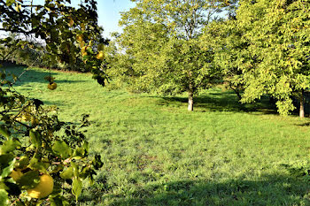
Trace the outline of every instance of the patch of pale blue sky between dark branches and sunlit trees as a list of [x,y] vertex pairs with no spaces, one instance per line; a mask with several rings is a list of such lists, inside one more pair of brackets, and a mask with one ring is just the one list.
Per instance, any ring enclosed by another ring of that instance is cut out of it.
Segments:
[[104,27],[105,37],[110,37],[112,32],[121,32],[118,27],[120,11],[128,11],[134,6],[130,0],[97,0],[98,25]]

